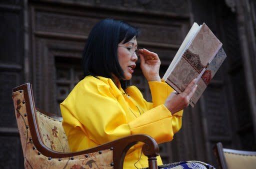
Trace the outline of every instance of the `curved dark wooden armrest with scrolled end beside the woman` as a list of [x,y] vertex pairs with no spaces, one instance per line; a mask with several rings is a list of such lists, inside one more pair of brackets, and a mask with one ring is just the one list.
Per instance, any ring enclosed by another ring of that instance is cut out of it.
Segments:
[[[54,152],[47,147],[42,150],[42,154],[51,157],[51,158],[66,158],[66,157],[75,157],[80,155],[86,155],[90,153],[95,153],[103,150],[113,151],[113,169],[122,169],[124,157],[130,147],[137,144],[138,142],[144,143],[142,146],[142,152],[145,156],[148,157],[149,169],[157,169],[156,156],[159,155],[158,145],[153,138],[147,135],[132,135],[127,136],[121,139],[114,140],[97,146],[95,148],[87,149],[79,152],[71,153],[59,153]],[[38,150],[40,151],[40,150]]]

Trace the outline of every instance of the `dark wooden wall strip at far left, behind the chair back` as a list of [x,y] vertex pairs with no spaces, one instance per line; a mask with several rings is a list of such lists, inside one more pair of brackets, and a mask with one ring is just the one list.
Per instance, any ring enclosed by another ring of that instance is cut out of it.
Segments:
[[23,83],[21,0],[0,1],[0,168],[23,168],[11,89]]

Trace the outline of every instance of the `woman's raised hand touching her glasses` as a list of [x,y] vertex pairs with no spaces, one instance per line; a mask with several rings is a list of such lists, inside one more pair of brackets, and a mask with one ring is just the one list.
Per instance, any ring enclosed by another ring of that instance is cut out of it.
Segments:
[[147,49],[139,49],[140,68],[147,81],[161,81],[159,76],[160,59],[154,52]]

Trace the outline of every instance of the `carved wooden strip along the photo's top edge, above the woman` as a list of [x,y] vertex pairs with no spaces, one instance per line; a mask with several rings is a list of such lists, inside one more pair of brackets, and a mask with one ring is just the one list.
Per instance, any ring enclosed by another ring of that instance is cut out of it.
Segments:
[[[60,0],[32,0],[35,2],[60,3]],[[163,13],[180,16],[189,15],[187,0],[61,0],[62,4],[100,7],[107,9]]]

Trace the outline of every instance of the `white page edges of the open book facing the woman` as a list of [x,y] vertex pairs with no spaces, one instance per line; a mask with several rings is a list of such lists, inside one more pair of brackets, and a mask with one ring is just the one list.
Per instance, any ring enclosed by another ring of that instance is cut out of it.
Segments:
[[180,59],[182,53],[184,52],[185,48],[187,47],[187,45],[189,44],[189,42],[191,42],[191,40],[193,39],[194,35],[196,34],[196,32],[199,29],[199,25],[194,22],[192,27],[190,28],[190,30],[188,31],[186,37],[184,38],[183,42],[181,43],[177,53],[175,54],[172,62],[170,63],[168,69],[166,70],[165,74],[163,75],[163,80],[166,81],[168,74],[171,72],[172,68],[174,67],[174,65],[176,64],[176,62]]

